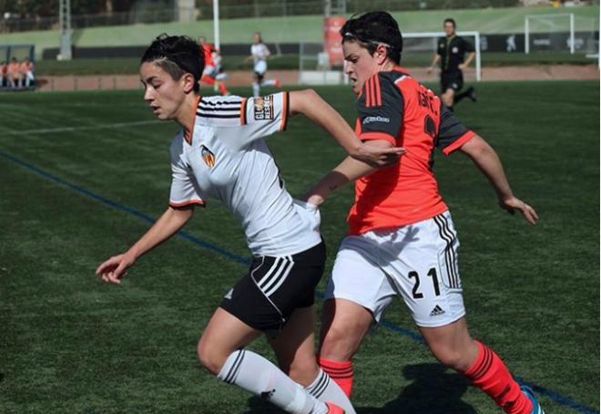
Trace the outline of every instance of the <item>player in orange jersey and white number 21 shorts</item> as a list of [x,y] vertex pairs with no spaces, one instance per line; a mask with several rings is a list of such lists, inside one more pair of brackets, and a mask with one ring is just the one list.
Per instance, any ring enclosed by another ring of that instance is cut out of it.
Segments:
[[358,179],[348,216],[350,234],[341,243],[325,297],[321,367],[350,395],[351,357],[392,297],[401,295],[434,357],[471,380],[506,413],[543,413],[532,391],[515,382],[501,358],[470,336],[457,265],[459,242],[434,179],[433,150],[470,157],[504,210],[521,212],[531,224],[538,219],[535,210],[514,196],[494,150],[399,67],[402,36],[391,15],[351,18],[341,35],[344,70],[357,96],[357,135],[382,147],[402,146],[406,153],[398,164],[379,171],[344,160],[308,193],[307,200],[319,205],[332,190]]

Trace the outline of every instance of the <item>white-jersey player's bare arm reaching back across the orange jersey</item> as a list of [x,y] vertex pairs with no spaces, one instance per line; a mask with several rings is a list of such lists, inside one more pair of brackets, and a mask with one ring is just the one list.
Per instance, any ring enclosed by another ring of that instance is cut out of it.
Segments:
[[396,162],[404,152],[404,149],[392,145],[384,148],[359,140],[341,114],[331,108],[313,89],[290,92],[290,115],[299,113],[327,130],[355,160],[361,160],[374,167],[383,167]]

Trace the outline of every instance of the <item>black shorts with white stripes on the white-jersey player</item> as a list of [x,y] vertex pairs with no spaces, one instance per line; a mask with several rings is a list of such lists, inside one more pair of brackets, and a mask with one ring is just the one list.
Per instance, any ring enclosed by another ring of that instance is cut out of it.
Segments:
[[325,267],[325,243],[291,256],[253,259],[249,273],[219,305],[245,324],[276,336],[292,312],[315,302],[315,288]]

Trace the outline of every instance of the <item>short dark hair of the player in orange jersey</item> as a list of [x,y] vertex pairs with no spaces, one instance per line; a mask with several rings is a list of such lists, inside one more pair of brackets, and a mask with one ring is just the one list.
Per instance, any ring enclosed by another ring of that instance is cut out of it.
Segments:
[[388,47],[386,56],[401,62],[402,34],[396,20],[387,12],[369,12],[351,16],[341,28],[342,43],[357,41],[373,54],[378,45]]

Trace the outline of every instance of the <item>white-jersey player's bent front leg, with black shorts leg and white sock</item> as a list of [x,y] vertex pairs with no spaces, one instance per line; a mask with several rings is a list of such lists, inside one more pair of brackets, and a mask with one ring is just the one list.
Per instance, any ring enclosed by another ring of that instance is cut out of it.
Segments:
[[223,298],[199,340],[203,366],[229,384],[236,384],[290,413],[327,413],[326,404],[287,377],[260,355],[242,349],[261,333],[278,330],[282,317],[260,292],[252,274],[263,276],[279,263],[274,258],[255,260],[250,274],[242,277]]

